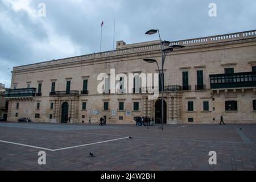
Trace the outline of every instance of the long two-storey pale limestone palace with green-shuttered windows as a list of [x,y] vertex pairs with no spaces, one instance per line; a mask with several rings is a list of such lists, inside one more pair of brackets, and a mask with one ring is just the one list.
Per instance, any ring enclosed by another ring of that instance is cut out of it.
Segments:
[[[185,48],[168,53],[164,64],[164,123],[256,123],[256,30],[179,40]],[[98,92],[100,73],[159,73],[160,42],[117,42],[113,51],[14,67],[7,121],[30,117],[34,122],[135,123],[148,116],[160,123],[161,97],[149,99],[134,77],[133,92]],[[135,74],[136,75],[136,74]],[[120,79],[122,80],[122,79]],[[119,81],[116,81],[119,82]]]

